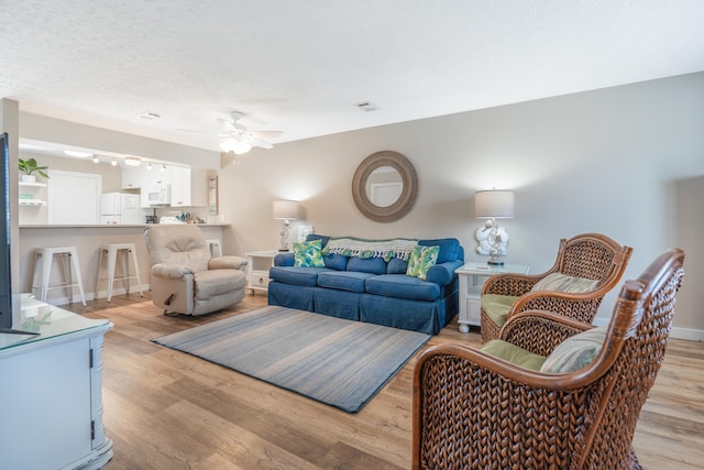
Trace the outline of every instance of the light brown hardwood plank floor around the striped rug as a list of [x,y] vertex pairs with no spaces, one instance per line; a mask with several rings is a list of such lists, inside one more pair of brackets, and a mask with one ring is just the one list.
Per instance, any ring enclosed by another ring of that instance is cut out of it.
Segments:
[[[148,294],[63,308],[108,318],[103,404],[109,469],[407,469],[415,358],[358,414],[154,345],[150,339],[266,305],[262,294],[202,317],[166,317]],[[457,318],[428,346],[479,345]],[[704,343],[671,340],[635,447],[649,469],[704,466]]]

